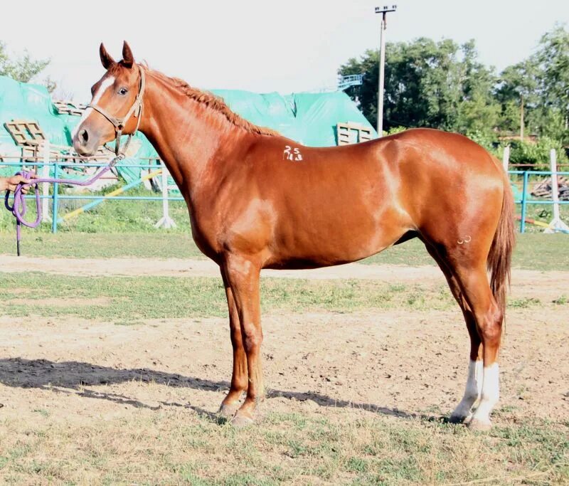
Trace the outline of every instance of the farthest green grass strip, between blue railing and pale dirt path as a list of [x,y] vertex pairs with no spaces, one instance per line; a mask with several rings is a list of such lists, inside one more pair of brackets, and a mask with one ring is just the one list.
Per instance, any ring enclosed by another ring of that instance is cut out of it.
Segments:
[[[569,268],[569,236],[526,233],[518,235],[514,268],[563,270]],[[13,231],[0,233],[0,253],[14,255]],[[151,233],[43,233],[23,229],[23,255],[70,258],[206,258],[196,247],[190,230],[156,230]],[[370,265],[435,265],[422,243],[415,239],[362,260]]]

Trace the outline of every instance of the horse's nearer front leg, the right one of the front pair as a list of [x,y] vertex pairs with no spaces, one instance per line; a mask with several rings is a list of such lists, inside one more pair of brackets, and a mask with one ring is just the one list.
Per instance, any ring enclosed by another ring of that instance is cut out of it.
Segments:
[[252,423],[257,402],[265,391],[261,370],[261,310],[259,295],[260,266],[253,260],[229,255],[225,263],[225,276],[233,294],[241,327],[241,339],[247,359],[248,388],[243,405],[233,418],[234,426]]

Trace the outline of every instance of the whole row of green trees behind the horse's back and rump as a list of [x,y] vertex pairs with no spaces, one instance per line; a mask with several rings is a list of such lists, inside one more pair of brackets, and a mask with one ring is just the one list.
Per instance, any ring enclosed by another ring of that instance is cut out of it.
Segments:
[[[351,58],[340,75],[364,73],[347,93],[376,125],[378,51]],[[569,143],[569,32],[555,26],[536,53],[497,74],[481,63],[474,41],[388,43],[385,47],[383,125],[433,127],[491,140],[520,130]]]

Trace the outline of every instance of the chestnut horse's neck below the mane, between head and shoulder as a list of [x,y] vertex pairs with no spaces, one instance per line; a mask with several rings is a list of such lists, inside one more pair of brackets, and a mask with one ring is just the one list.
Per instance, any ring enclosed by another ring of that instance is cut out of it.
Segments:
[[203,172],[220,149],[241,136],[240,130],[211,109],[148,77],[141,131],[158,152],[186,201],[199,191]]

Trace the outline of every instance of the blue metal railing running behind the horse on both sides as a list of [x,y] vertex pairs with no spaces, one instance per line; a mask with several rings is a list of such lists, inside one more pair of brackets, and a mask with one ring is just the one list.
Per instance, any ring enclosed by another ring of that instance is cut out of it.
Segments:
[[[73,162],[30,162],[28,164],[23,164],[22,162],[1,162],[0,167],[15,167],[16,169],[21,169],[22,167],[53,167],[53,176],[57,178],[58,176],[62,176],[60,169],[65,167],[106,167],[105,164],[92,164],[92,163],[85,163],[85,164],[77,164]],[[120,164],[118,167],[124,168],[139,168],[139,169],[157,169],[160,166],[157,164]],[[16,170],[14,170],[16,171]],[[553,201],[547,201],[542,199],[529,199],[528,198],[528,185],[529,185],[529,178],[530,176],[551,176],[552,174],[557,174],[558,176],[569,176],[569,171],[558,171],[558,172],[551,172],[551,171],[518,171],[512,170],[508,171],[510,175],[521,175],[522,176],[522,188],[521,188],[521,199],[514,201],[516,204],[521,206],[521,221],[520,221],[520,233],[525,233],[526,231],[526,216],[528,211],[528,205],[531,204],[553,204]],[[100,194],[98,196],[87,196],[87,195],[70,195],[70,194],[59,194],[59,185],[60,184],[53,184],[53,194],[49,196],[40,196],[41,199],[51,199],[52,200],[52,222],[51,222],[51,231],[56,233],[58,231],[58,206],[60,201],[64,200],[73,200],[73,199],[83,199],[83,200],[90,200],[90,199],[105,199],[105,200],[122,200],[122,201],[162,201],[163,196],[105,196],[104,194]],[[27,199],[32,199],[34,196],[26,196]],[[181,196],[168,196],[168,201],[184,201],[184,198]],[[559,201],[559,204],[569,204],[569,201]]]

